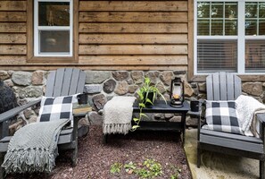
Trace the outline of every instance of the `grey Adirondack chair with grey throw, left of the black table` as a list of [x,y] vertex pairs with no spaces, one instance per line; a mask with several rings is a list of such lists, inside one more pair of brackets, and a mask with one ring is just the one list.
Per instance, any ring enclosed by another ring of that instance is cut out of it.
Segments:
[[[79,69],[73,68],[60,68],[56,71],[52,71],[48,74],[46,81],[46,97],[60,97],[68,96],[76,93],[83,93],[86,80],[86,73]],[[41,99],[29,102],[28,104],[15,107],[0,115],[0,153],[1,164],[3,163],[4,153],[7,151],[8,142],[12,138],[9,135],[8,120],[15,115],[18,115],[21,111],[38,105]],[[74,116],[73,128],[62,130],[59,141],[58,149],[72,149],[71,163],[72,166],[76,166],[78,155],[78,122],[84,115]],[[1,167],[1,173],[3,176],[4,171]]]

